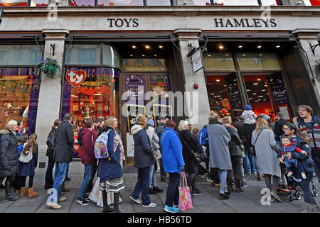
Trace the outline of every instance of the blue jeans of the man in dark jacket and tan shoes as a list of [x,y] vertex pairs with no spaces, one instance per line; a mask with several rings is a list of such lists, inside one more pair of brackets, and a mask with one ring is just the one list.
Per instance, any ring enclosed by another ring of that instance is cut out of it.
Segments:
[[[53,183],[53,189],[55,189],[57,192],[57,200],[60,199],[61,184],[65,180],[65,173],[67,172],[68,165],[68,162],[55,162],[55,182]],[[54,201],[53,191],[51,191],[47,201],[49,203]]]

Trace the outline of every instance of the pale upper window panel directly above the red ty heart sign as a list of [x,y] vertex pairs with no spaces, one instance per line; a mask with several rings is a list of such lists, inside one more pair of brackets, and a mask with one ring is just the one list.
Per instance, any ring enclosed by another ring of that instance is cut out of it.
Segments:
[[65,53],[67,65],[100,65],[100,45],[73,45]]

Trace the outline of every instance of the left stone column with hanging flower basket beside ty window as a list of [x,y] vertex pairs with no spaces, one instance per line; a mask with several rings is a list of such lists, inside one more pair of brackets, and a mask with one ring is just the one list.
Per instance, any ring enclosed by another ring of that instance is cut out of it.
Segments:
[[[65,47],[65,35],[69,33],[65,29],[43,29],[46,35],[46,44],[44,57],[52,57],[57,59],[61,67],[63,62],[63,52]],[[51,44],[55,45],[55,55],[51,48]],[[57,70],[58,72],[58,70]],[[62,72],[62,70],[61,70]],[[62,72],[63,74],[63,72]],[[55,119],[59,119],[61,97],[61,77],[50,79],[46,74],[41,73],[41,85],[38,101],[38,113],[36,119],[36,134],[38,135],[38,165],[36,175],[45,175],[46,168],[43,168],[43,162],[48,162],[46,157],[46,140],[51,126]],[[41,163],[42,162],[42,163]],[[47,166],[47,165],[46,165]]]

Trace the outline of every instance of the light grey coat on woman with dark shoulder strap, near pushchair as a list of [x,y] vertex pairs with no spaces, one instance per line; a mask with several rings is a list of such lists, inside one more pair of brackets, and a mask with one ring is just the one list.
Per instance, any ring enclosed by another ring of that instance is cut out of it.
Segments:
[[[260,133],[260,131],[262,132]],[[257,138],[259,133],[259,138]],[[255,142],[256,139],[257,141]],[[272,130],[260,126],[258,133],[256,131],[252,132],[251,143],[255,143],[257,165],[260,167],[261,173],[281,177],[280,161],[277,157],[279,147],[274,139]]]

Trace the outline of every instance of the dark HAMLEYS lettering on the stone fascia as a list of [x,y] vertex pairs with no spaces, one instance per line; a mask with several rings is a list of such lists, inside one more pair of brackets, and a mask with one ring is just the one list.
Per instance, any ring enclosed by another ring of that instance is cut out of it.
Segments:
[[214,18],[215,28],[275,28],[275,18]]

